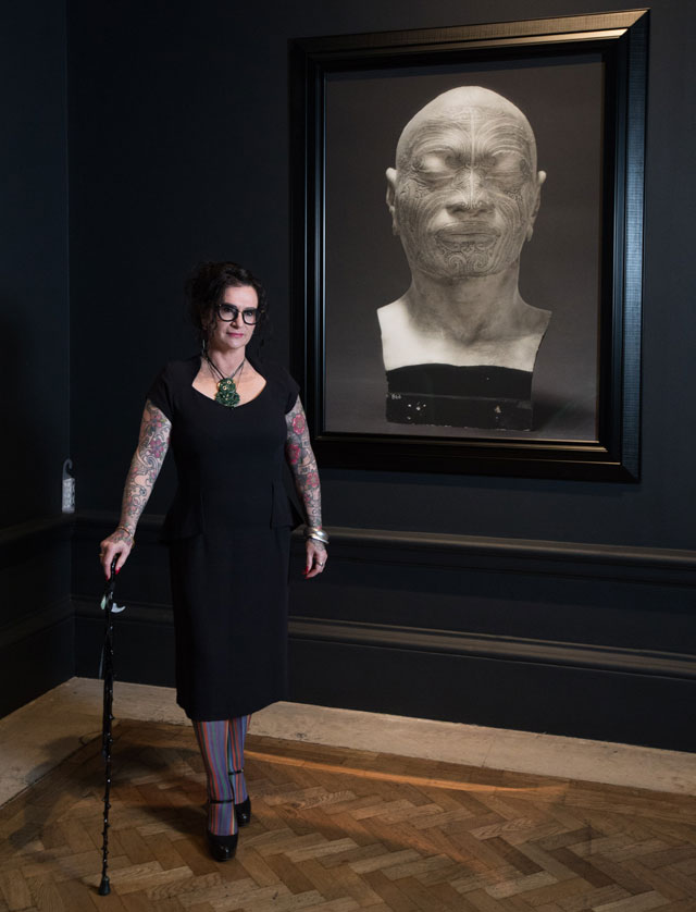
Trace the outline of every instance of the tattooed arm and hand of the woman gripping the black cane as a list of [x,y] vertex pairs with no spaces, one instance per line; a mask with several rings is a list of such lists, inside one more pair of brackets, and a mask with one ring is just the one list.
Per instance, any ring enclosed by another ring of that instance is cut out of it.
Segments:
[[101,542],[100,559],[107,579],[116,555],[116,572],[126,563],[135,538],[135,528],[145,509],[170,445],[172,423],[150,399],[145,404],[138,446],[130,461],[123,489],[119,528]]

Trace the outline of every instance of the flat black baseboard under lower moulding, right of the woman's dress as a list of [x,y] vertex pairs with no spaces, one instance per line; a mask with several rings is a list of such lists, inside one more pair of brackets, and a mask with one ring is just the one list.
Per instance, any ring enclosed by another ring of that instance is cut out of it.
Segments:
[[696,752],[696,681],[540,662],[290,641],[290,699]]

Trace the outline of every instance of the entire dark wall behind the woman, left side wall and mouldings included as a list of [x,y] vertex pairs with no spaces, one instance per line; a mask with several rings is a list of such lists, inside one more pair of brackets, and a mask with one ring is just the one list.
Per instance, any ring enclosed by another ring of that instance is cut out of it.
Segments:
[[[197,259],[263,276],[270,348],[289,363],[288,39],[601,9],[4,4],[0,710],[97,673],[98,542],[144,392],[191,350],[181,287]],[[304,582],[296,555],[294,699],[696,748],[695,26],[684,0],[651,14],[641,482],[324,470],[332,566]],[[59,513],[69,451],[74,522]],[[120,579],[129,680],[171,682],[156,540],[172,485],[169,467]]]

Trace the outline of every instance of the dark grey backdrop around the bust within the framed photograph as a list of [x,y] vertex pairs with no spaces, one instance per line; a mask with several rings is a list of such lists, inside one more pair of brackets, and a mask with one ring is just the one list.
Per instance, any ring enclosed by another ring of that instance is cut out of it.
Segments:
[[[534,371],[535,430],[411,428],[440,436],[596,439],[604,67],[597,56],[498,66],[331,75],[326,86],[326,407],[323,430],[403,434],[385,418],[376,310],[411,276],[385,202],[408,121],[443,91],[481,85],[526,115],[547,172],[520,291],[551,311]],[[607,224],[611,232],[611,224]],[[611,300],[606,303],[611,310]]]

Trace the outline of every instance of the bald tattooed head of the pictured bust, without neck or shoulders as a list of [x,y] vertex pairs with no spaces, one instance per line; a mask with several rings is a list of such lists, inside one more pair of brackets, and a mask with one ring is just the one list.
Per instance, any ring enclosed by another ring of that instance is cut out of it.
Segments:
[[513,268],[546,180],[527,119],[489,89],[439,95],[406,125],[387,205],[411,270],[444,282]]

